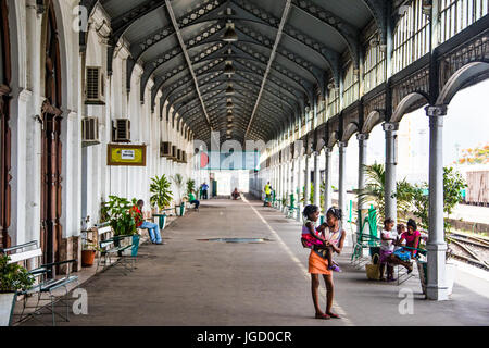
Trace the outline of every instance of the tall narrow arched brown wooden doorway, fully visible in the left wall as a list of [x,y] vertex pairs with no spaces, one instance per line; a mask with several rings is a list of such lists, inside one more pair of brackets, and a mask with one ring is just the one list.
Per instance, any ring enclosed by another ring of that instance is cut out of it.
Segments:
[[41,120],[41,248],[45,262],[60,260],[61,226],[61,173],[62,173],[62,105],[61,59],[54,8],[50,3],[46,15],[43,40],[45,97]]

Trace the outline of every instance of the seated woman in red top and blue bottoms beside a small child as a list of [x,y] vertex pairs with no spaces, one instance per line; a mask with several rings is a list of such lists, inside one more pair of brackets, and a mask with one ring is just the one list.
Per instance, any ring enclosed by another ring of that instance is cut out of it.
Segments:
[[[401,264],[408,269],[408,273],[413,272],[413,265],[411,263],[411,259],[416,257],[417,250],[419,246],[421,233],[417,231],[416,222],[413,219],[408,221],[408,231],[405,231],[404,225],[398,225],[398,234],[401,235],[399,241],[396,243],[398,247],[402,246],[402,243],[405,240],[405,246],[408,248],[398,248],[390,256],[388,262],[393,264]],[[409,249],[413,248],[413,249]]]

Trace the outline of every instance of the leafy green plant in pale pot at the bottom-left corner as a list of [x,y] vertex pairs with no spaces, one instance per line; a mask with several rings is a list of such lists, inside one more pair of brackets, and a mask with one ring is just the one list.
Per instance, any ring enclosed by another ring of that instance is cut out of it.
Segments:
[[34,284],[26,269],[9,261],[9,256],[0,254],[0,326],[10,325],[17,293]]

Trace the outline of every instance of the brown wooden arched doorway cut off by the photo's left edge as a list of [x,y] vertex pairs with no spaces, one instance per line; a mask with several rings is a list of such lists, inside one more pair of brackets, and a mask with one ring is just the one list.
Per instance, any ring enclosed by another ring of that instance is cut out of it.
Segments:
[[11,55],[7,0],[0,0],[0,248],[10,246]]

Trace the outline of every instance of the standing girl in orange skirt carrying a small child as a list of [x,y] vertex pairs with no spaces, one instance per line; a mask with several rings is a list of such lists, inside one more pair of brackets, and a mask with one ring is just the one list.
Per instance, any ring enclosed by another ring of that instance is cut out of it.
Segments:
[[[329,226],[329,233],[339,233],[338,244],[329,244],[333,251],[336,253],[341,253],[343,249],[343,243],[346,237],[346,232],[340,227],[341,221],[341,209],[330,208],[326,213],[326,223]],[[327,256],[324,249],[314,247],[309,256],[309,273],[311,273],[311,293],[313,297],[314,308],[316,310],[316,319],[330,319],[339,318],[338,314],[331,312],[333,298],[335,295],[335,287],[333,284],[333,273],[328,269]],[[323,275],[326,283],[326,313],[319,308],[319,274]]]

